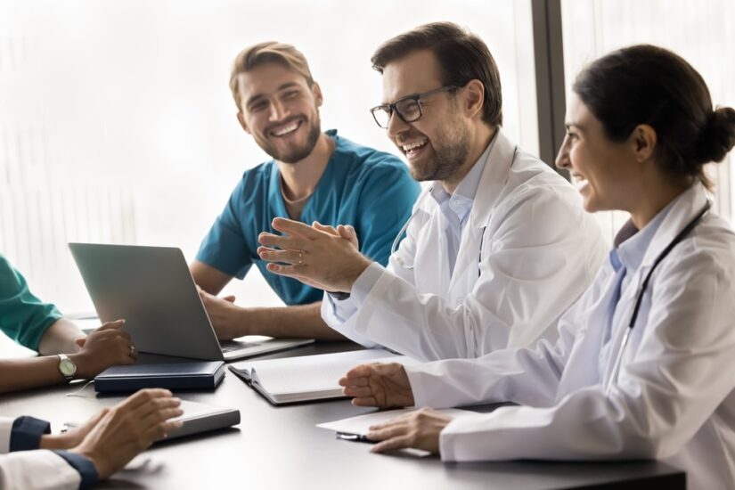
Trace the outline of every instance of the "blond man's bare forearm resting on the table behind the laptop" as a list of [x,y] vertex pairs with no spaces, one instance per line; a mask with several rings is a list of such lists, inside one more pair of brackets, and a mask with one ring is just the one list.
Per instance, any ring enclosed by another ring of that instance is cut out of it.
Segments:
[[242,308],[238,318],[242,335],[267,335],[320,340],[345,340],[321,315],[322,303],[300,306]]

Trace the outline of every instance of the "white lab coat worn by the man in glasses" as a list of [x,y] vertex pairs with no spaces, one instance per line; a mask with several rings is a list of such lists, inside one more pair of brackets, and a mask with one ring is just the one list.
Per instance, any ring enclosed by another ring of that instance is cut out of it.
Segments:
[[322,315],[331,328],[366,347],[422,360],[472,358],[533,345],[544,334],[555,338],[559,316],[590,285],[607,246],[567,181],[522,151],[514,160],[516,145],[502,131],[493,144],[453,275],[445,217],[436,200],[420,198],[396,254],[414,268],[390,257],[347,317],[326,295]]

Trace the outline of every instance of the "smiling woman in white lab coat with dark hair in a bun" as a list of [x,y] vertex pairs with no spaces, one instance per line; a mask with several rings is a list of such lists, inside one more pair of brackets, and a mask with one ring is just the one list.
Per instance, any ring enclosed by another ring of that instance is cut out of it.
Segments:
[[512,401],[454,420],[431,410],[372,428],[373,451],[444,461],[660,459],[693,488],[735,487],[735,233],[710,210],[703,166],[735,144],[674,53],[638,45],[576,78],[557,165],[588,211],[631,220],[555,345],[415,367],[358,366],[354,404],[434,408]]

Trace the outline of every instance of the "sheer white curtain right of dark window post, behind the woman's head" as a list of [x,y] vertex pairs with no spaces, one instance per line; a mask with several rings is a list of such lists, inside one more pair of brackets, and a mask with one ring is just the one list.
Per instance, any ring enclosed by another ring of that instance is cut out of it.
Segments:
[[[563,0],[564,64],[568,93],[584,63],[626,45],[649,43],[682,55],[698,69],[715,104],[735,106],[735,2],[731,0]],[[715,208],[731,219],[732,153],[708,168]],[[610,241],[628,218],[599,213]]]

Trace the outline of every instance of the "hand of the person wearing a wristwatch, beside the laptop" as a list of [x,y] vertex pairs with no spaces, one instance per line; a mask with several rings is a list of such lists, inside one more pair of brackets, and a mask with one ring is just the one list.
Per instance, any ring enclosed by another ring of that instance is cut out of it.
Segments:
[[77,365],[75,378],[91,380],[110,366],[135,362],[138,351],[130,334],[120,330],[124,324],[125,320],[104,323],[86,338],[75,340],[79,351],[69,354],[69,359]]

